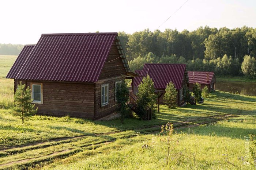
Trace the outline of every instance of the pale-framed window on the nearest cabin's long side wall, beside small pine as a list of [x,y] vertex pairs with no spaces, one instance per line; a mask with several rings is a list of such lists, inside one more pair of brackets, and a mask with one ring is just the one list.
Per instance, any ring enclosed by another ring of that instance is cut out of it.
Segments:
[[31,83],[32,103],[43,104],[43,84]]

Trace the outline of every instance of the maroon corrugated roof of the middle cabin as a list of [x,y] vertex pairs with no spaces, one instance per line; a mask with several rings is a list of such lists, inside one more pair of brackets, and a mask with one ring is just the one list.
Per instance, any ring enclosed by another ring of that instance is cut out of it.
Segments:
[[[140,75],[146,77],[147,74],[154,81],[155,89],[165,89],[170,81],[173,82],[176,89],[180,89],[184,74],[187,78],[185,64],[145,64]],[[142,77],[135,77],[135,86],[139,86]]]

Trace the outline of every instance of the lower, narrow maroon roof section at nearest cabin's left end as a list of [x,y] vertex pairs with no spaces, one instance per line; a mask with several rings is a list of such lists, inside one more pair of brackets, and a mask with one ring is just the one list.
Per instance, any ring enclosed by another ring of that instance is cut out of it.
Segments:
[[29,56],[29,54],[31,53],[31,51],[34,49],[35,45],[25,45],[22,49],[22,51],[20,52],[18,58],[16,59],[16,61],[14,62],[14,64],[12,65],[12,68],[10,70],[10,72],[7,74],[7,78],[14,78],[20,71],[23,62],[26,61],[27,56]]

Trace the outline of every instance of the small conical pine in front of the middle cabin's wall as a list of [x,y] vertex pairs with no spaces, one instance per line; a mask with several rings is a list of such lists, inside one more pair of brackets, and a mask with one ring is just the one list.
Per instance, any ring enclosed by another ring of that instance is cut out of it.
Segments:
[[168,108],[176,108],[177,107],[177,91],[173,82],[169,82],[165,88],[165,94],[163,95],[163,100]]

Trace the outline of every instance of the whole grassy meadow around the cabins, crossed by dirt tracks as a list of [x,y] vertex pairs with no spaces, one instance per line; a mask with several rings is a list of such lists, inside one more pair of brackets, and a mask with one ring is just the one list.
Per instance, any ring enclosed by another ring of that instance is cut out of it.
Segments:
[[[161,105],[157,119],[151,121],[135,117],[121,124],[118,119],[34,115],[22,124],[13,114],[13,80],[4,78],[15,58],[0,56],[0,169],[256,167],[245,145],[250,134],[256,135],[255,96],[215,91],[204,104],[177,109]],[[166,137],[159,136],[167,122],[173,123],[172,138],[178,140],[171,146],[168,165],[167,145],[161,140]],[[142,147],[145,144],[147,148]]]

